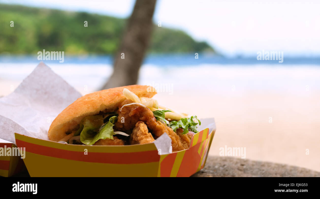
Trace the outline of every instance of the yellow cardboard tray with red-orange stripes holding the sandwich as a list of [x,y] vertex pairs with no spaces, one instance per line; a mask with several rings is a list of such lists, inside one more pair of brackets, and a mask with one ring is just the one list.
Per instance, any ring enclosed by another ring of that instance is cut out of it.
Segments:
[[190,148],[159,155],[154,143],[70,145],[15,133],[31,177],[189,177],[204,167],[215,128],[194,134]]

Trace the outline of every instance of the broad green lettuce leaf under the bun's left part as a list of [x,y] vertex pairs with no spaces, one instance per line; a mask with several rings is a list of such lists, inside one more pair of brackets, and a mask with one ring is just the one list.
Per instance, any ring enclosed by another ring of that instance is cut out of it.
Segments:
[[[99,118],[95,120],[85,119],[83,121],[84,127],[80,133],[80,141],[85,145],[92,145],[99,139],[107,139],[107,138],[113,139],[113,135],[115,134],[113,131],[113,126],[115,123],[116,116],[111,117],[108,123],[106,123],[103,126],[102,126],[103,117],[101,115],[96,115],[96,116],[99,116]],[[89,117],[95,117],[95,116],[89,116]]]

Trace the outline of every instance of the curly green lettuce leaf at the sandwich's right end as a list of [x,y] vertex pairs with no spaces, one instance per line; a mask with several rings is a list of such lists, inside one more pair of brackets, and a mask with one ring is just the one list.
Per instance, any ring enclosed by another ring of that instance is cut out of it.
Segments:
[[[193,121],[194,118],[198,121],[198,123]],[[197,116],[191,116],[190,118],[181,118],[181,120],[179,121],[171,121],[169,123],[169,126],[172,128],[174,132],[176,132],[178,128],[182,128],[182,134],[186,134],[189,132],[189,130],[197,133],[197,124],[201,125],[200,120],[197,118]]]

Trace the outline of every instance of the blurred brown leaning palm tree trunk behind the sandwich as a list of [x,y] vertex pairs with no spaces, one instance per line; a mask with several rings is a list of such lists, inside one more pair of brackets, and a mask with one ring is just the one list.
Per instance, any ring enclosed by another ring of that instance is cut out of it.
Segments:
[[156,0],[136,0],[115,56],[114,72],[102,89],[137,83],[139,68],[152,32],[155,6]]

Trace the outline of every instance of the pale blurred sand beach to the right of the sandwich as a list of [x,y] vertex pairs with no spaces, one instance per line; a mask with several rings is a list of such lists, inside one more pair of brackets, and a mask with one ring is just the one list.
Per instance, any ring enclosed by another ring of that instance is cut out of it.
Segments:
[[[175,95],[155,98],[169,100],[177,110],[199,117],[214,117],[217,131],[209,155],[220,147],[246,147],[246,159],[285,163],[320,171],[319,95],[254,94],[243,96]],[[204,103],[196,103],[197,101]],[[187,105],[187,108],[186,108]],[[201,115],[201,116],[200,116]],[[272,117],[272,123],[269,123]],[[306,155],[309,149],[309,155]],[[239,157],[240,158],[240,157]]]

